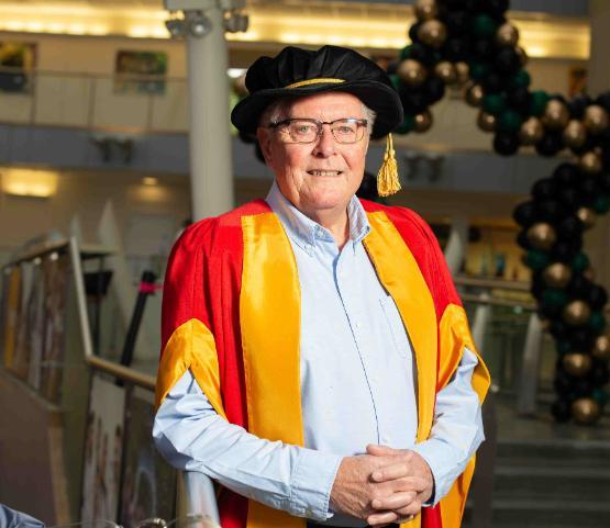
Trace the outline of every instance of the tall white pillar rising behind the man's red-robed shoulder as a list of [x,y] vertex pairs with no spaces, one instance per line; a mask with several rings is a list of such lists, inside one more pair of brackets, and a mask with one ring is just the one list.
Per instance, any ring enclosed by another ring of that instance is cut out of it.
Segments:
[[[188,21],[196,11],[186,11]],[[233,207],[233,165],[229,132],[229,52],[218,2],[203,11],[212,24],[204,36],[187,33],[190,101],[192,220]]]

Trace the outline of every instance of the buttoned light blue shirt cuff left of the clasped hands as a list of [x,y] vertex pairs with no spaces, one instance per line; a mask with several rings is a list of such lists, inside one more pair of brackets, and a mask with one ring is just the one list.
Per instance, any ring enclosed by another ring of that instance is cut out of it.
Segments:
[[324,521],[333,516],[329,503],[342,457],[313,449],[299,450],[290,483],[290,514]]

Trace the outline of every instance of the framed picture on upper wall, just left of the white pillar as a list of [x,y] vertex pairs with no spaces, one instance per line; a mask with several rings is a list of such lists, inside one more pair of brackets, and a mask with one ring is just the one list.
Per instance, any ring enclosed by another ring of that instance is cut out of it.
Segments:
[[164,52],[117,52],[114,93],[165,93],[167,54]]

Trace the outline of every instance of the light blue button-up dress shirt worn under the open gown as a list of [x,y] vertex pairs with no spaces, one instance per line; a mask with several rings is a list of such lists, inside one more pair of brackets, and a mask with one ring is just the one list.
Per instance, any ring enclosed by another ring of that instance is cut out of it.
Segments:
[[362,204],[356,198],[350,202],[350,240],[340,251],[332,234],[298,211],[276,183],[267,203],[288,234],[301,287],[304,447],[271,442],[229,424],[186,372],[157,412],[157,449],[177,468],[202,471],[268,506],[353,527],[366,523],[329,508],[341,459],[365,452],[367,443],[412,449],[432,470],[435,504],[484,439],[470,383],[476,356],[465,350],[437,394],[430,438],[415,445],[413,353],[364,248],[371,227]]

